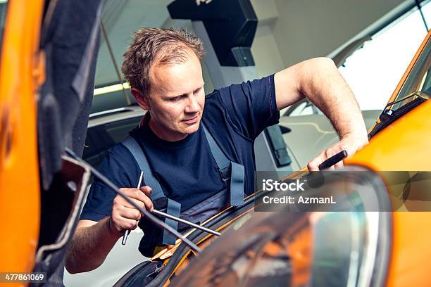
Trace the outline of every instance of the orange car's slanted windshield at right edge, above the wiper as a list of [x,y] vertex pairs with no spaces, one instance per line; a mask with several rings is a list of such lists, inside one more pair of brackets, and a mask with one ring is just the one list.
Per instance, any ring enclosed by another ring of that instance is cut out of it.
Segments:
[[[430,39],[428,39],[428,42],[423,52],[420,54],[420,57],[418,58],[413,69],[408,75],[406,82],[404,82],[403,87],[399,91],[399,94],[394,99],[394,101],[399,101],[399,102],[395,103],[392,106],[392,110],[397,110],[401,106],[404,106],[406,103],[413,101],[418,96],[427,98],[427,96],[431,95],[430,49],[431,49],[431,43],[430,43]],[[416,93],[416,95],[411,96],[414,93]],[[400,101],[403,98],[406,98],[406,99],[404,101]]]

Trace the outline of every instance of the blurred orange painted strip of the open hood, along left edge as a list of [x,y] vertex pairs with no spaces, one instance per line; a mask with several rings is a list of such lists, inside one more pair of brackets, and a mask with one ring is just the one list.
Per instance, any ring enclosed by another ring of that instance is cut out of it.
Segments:
[[39,237],[36,92],[44,1],[9,1],[0,63],[0,270],[31,272]]

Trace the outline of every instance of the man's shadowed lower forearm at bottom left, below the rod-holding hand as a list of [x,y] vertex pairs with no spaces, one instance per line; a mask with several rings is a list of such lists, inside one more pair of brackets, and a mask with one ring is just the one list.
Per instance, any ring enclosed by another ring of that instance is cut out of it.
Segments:
[[75,231],[66,257],[65,267],[70,273],[87,272],[99,267],[120,234],[109,227],[109,218]]

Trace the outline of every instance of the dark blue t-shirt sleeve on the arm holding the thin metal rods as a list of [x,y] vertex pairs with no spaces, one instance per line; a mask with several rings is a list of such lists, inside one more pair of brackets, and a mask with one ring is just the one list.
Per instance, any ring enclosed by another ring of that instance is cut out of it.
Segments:
[[[137,182],[138,170],[139,167],[135,158],[122,144],[118,144],[111,151],[108,151],[99,167],[99,172],[119,188],[136,187],[136,183],[132,184],[132,182]],[[115,195],[116,193],[109,189],[106,184],[95,179],[89,190],[80,219],[99,221],[111,215]]]

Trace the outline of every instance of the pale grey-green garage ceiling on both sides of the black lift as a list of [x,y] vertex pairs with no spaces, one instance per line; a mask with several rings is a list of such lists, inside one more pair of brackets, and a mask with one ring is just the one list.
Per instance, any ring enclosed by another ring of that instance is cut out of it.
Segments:
[[[172,25],[171,0],[107,0],[102,15],[118,68],[131,35],[139,27]],[[194,1],[194,0],[189,0]],[[218,0],[213,0],[218,1]],[[262,25],[270,27],[287,67],[305,58],[327,56],[355,37],[382,25],[415,0],[251,0]],[[259,28],[258,28],[259,29]],[[258,57],[258,55],[254,55]],[[258,63],[258,60],[256,61]],[[96,68],[96,87],[118,82],[106,42]]]

